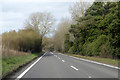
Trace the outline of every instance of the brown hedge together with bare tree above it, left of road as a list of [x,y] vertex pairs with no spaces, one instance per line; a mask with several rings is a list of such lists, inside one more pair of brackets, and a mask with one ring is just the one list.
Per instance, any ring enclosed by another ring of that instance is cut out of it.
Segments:
[[54,22],[55,18],[50,13],[35,12],[26,20],[24,29],[2,33],[3,57],[14,56],[12,52],[16,52],[16,56],[17,52],[42,52],[45,35],[51,31]]

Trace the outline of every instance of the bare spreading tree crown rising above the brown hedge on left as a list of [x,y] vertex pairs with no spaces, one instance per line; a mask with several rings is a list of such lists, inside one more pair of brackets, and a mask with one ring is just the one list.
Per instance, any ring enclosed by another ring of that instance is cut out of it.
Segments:
[[55,18],[50,13],[37,12],[30,15],[25,28],[31,28],[43,38],[51,31]]

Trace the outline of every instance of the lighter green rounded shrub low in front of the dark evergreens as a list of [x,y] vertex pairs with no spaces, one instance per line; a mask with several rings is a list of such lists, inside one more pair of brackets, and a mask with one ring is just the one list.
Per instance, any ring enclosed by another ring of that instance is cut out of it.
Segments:
[[109,39],[106,35],[101,35],[96,40],[94,40],[92,43],[84,44],[83,52],[85,52],[85,54],[88,56],[93,56],[93,55],[100,56],[101,49],[104,48],[104,45],[108,41]]

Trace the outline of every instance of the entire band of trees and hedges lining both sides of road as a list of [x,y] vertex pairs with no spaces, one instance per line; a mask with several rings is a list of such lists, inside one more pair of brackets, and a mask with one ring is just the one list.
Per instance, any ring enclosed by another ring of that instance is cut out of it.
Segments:
[[[82,56],[120,58],[120,2],[77,2],[72,20],[62,18],[51,38],[55,19],[50,13],[33,13],[25,29],[2,34],[2,48],[23,52],[59,51]],[[8,51],[7,51],[8,52]]]

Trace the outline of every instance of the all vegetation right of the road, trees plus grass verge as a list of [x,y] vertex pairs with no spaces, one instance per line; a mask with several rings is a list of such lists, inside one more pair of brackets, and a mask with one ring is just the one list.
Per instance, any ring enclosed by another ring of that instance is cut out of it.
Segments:
[[[63,43],[54,50],[69,55],[118,66],[120,59],[120,2],[77,2],[70,6],[69,28],[58,25],[55,36]],[[64,27],[64,28],[63,28]],[[62,29],[66,31],[63,31]],[[60,37],[59,37],[60,38]],[[64,47],[63,47],[64,46]]]

